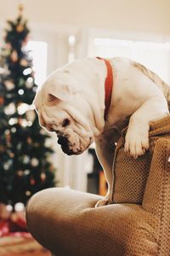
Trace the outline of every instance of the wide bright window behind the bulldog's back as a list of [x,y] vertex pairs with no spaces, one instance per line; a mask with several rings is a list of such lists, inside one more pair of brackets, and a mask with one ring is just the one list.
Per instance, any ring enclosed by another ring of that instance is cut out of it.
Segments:
[[89,41],[89,56],[133,59],[157,73],[170,84],[170,44],[146,41],[131,41],[112,38],[94,38]]

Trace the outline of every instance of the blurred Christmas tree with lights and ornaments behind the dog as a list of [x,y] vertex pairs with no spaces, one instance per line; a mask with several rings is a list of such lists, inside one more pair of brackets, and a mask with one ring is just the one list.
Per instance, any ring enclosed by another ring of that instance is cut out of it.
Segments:
[[20,15],[8,21],[0,61],[0,202],[14,206],[54,186],[53,150],[31,103],[37,85],[26,50],[29,29]]

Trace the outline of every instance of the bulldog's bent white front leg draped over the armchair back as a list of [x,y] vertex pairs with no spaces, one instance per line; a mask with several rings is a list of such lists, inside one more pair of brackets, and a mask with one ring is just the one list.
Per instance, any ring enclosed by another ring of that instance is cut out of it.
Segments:
[[131,116],[125,137],[125,151],[134,158],[149,148],[150,121],[161,119],[169,113],[164,96],[155,96],[144,102]]

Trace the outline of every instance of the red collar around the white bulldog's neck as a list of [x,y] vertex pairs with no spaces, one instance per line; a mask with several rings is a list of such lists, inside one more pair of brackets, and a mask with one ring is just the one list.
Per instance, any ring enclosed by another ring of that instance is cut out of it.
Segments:
[[105,61],[105,65],[107,67],[107,76],[105,79],[105,114],[104,114],[104,117],[106,119],[107,113],[111,105],[111,93],[113,88],[113,71],[112,71],[110,61],[100,57],[97,57],[97,59],[101,61]]

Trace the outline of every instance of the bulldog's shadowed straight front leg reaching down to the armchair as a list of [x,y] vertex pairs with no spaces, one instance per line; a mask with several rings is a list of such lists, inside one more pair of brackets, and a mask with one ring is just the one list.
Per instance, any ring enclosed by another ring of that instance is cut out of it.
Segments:
[[112,177],[112,166],[113,166],[113,158],[115,151],[115,143],[111,140],[108,142],[104,137],[97,141],[95,141],[95,149],[97,156],[99,158],[99,162],[103,167],[105,172],[105,177],[108,183],[108,191],[105,195],[105,198],[98,201],[95,207],[102,207],[110,203],[111,201],[111,188],[113,183]]

